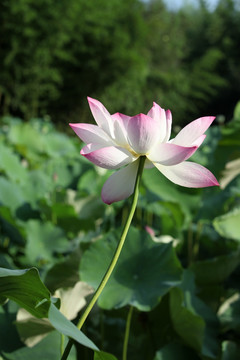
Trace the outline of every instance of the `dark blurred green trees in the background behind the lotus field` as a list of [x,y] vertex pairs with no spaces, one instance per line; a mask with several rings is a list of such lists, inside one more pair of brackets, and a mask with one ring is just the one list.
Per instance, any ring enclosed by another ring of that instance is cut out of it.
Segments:
[[[231,116],[240,98],[240,9],[219,0],[1,0],[0,112],[86,121],[86,96],[110,111],[154,100],[180,124]],[[86,115],[87,114],[87,115]]]

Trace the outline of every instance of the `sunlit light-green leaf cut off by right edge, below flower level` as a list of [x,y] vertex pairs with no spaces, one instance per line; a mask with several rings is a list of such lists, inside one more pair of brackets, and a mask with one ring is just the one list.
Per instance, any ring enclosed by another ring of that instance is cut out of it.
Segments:
[[223,237],[240,241],[240,208],[235,208],[227,214],[214,219],[216,231]]

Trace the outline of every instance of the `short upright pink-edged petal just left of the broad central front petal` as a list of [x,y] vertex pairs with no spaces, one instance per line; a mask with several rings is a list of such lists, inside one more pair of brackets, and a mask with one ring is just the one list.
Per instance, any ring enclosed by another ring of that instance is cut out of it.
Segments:
[[114,126],[114,139],[116,144],[120,146],[128,145],[127,125],[130,116],[116,113],[112,115],[112,119]]

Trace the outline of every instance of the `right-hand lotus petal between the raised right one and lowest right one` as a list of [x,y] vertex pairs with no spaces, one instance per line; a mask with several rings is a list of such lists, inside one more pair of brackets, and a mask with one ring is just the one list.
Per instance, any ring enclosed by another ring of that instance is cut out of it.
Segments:
[[157,144],[147,155],[147,158],[164,166],[172,166],[188,159],[195,151],[197,146],[184,147],[172,143]]

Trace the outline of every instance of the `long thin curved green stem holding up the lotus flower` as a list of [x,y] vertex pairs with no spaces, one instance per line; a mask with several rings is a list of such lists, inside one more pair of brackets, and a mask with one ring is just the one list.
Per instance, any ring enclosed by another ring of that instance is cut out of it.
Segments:
[[[131,209],[130,209],[130,212],[129,212],[129,216],[128,216],[127,221],[125,223],[125,226],[123,228],[123,232],[122,232],[121,238],[119,240],[118,246],[117,246],[117,248],[115,250],[115,253],[113,255],[112,261],[111,261],[111,263],[110,263],[110,265],[109,265],[109,267],[108,267],[108,269],[107,269],[107,271],[106,271],[100,285],[98,286],[96,292],[94,293],[90,303],[86,307],[82,317],[80,318],[80,320],[78,322],[77,327],[79,328],[79,330],[82,328],[82,326],[83,326],[85,320],[87,319],[90,311],[92,310],[94,304],[96,303],[99,296],[101,295],[105,285],[107,284],[107,282],[108,282],[108,280],[109,280],[109,278],[110,278],[110,276],[111,276],[111,274],[113,272],[113,269],[116,266],[118,258],[120,256],[120,253],[121,253],[122,247],[124,245],[124,242],[125,242],[129,227],[130,227],[132,219],[133,219],[133,215],[134,215],[136,207],[137,207],[137,201],[138,201],[138,195],[139,195],[139,185],[140,185],[142,172],[143,172],[143,168],[144,168],[144,162],[145,162],[145,156],[141,156],[140,159],[139,159],[138,172],[137,172],[137,177],[136,177],[136,182],[135,182],[134,192],[133,192],[133,201],[132,201],[132,206],[131,206]],[[70,339],[68,341],[68,344],[66,346],[66,349],[65,349],[65,351],[63,353],[63,356],[62,356],[61,360],[66,360],[68,358],[68,355],[70,353],[72,345],[73,345],[73,341]]]

